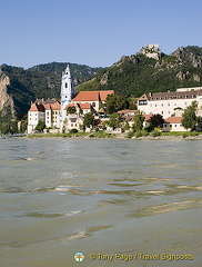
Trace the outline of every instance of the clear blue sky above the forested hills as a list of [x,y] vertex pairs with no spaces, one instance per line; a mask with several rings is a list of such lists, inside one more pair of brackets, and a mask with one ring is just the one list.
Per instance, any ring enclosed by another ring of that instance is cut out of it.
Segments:
[[0,0],[0,65],[109,67],[142,46],[202,47],[201,0]]

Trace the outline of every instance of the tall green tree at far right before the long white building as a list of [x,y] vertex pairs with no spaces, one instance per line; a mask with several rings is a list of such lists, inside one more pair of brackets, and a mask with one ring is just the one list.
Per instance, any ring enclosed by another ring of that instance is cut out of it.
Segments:
[[184,109],[182,115],[182,126],[188,130],[194,130],[198,123],[196,117],[198,102],[193,101],[188,108]]

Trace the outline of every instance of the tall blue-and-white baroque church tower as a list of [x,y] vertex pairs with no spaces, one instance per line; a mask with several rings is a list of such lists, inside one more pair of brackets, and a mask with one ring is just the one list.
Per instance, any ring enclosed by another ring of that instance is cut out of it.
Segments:
[[64,119],[64,108],[68,106],[68,103],[71,102],[72,98],[75,96],[75,89],[73,79],[70,73],[70,67],[67,66],[65,70],[62,72],[62,83],[61,83],[61,122],[63,122]]

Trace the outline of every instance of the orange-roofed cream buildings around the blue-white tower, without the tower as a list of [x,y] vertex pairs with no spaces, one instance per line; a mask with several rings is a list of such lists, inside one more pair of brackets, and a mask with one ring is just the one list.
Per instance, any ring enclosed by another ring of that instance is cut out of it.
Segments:
[[[37,99],[28,111],[28,134],[34,132],[39,121],[44,121],[52,132],[81,130],[84,115],[91,112],[97,119],[101,117],[107,96],[113,93],[113,90],[81,91],[62,110],[61,102],[55,99]],[[68,113],[70,107],[74,107],[74,112]]]

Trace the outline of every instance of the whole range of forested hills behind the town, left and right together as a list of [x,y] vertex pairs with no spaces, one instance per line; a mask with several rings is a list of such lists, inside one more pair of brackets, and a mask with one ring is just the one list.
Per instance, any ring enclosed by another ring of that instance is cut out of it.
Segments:
[[[150,91],[202,86],[202,48],[178,48],[171,55],[160,50],[155,52],[155,49],[147,47],[137,55],[123,56],[120,61],[104,69],[69,63],[78,85],[75,89],[114,90],[117,95],[137,98]],[[156,57],[149,58],[149,55]],[[1,66],[0,122],[8,112],[21,118],[36,98],[60,99],[61,75],[67,65],[52,62],[27,70]]]

